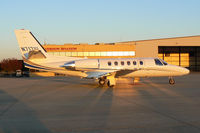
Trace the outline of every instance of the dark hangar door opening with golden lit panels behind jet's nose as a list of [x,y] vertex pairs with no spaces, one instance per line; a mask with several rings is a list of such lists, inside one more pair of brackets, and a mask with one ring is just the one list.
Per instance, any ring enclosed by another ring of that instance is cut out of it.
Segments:
[[159,46],[158,57],[169,64],[183,66],[193,71],[200,71],[200,47]]

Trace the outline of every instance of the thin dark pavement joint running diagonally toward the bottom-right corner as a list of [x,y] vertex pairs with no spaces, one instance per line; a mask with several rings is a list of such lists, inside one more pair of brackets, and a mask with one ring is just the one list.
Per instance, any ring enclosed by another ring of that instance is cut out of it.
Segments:
[[[105,94],[106,94],[107,96],[112,96],[111,94],[109,94],[109,92],[105,92]],[[180,122],[180,123],[182,123],[182,124],[185,124],[185,125],[187,125],[187,126],[191,126],[191,127],[193,127],[193,128],[196,128],[196,129],[200,130],[200,127],[198,127],[198,126],[196,126],[196,125],[193,125],[193,124],[191,124],[191,123],[189,123],[189,122],[186,122],[186,121],[184,121],[184,120],[177,119],[177,118],[175,118],[175,117],[172,116],[172,115],[167,115],[167,114],[165,114],[165,113],[163,113],[163,112],[160,112],[160,111],[158,111],[158,110],[156,110],[156,109],[154,109],[154,108],[145,106],[144,104],[140,104],[140,103],[137,103],[137,102],[134,102],[134,101],[127,100],[127,99],[125,99],[125,98],[123,98],[123,97],[121,97],[121,96],[116,96],[116,97],[120,98],[120,99],[123,100],[123,101],[129,102],[129,103],[134,103],[134,104],[136,104],[136,105],[140,105],[140,106],[143,107],[143,108],[148,108],[148,109],[150,109],[151,111],[153,111],[153,112],[155,112],[155,113],[157,113],[157,114],[160,114],[160,115],[162,115],[162,116],[164,116],[164,117],[170,118],[170,119],[172,119],[172,120],[175,120],[175,121],[177,121],[177,122]]]

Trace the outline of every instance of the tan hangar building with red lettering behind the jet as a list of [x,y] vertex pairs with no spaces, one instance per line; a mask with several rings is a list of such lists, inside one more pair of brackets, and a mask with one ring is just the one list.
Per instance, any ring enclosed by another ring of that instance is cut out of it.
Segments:
[[57,56],[88,58],[159,57],[169,64],[200,71],[200,36],[128,41],[117,43],[44,45]]

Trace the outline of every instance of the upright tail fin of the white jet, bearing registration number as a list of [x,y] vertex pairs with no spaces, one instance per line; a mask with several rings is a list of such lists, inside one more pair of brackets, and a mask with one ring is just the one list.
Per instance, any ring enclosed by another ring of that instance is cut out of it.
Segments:
[[46,50],[29,30],[15,30],[22,57],[29,59],[33,51],[39,52],[46,58]]

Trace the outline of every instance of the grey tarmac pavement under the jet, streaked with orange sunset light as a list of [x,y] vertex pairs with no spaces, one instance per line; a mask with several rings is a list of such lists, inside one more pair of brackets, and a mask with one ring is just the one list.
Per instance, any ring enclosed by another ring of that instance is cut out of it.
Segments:
[[0,78],[0,133],[199,133],[200,73],[175,80]]

